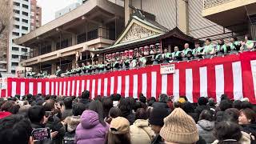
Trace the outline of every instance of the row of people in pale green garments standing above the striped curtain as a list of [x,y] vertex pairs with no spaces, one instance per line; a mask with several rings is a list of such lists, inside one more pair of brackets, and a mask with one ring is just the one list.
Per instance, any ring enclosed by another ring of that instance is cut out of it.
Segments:
[[[117,52],[105,58],[104,61],[82,62],[75,64],[71,69],[62,70],[61,66],[58,66],[54,75],[57,77],[72,76],[78,74],[99,74],[112,70],[128,70],[146,65],[156,65],[161,63],[170,63],[178,61],[190,61],[202,58],[213,58],[215,56],[221,56],[224,54],[235,54],[247,50],[254,50],[256,42],[249,40],[245,36],[243,41],[238,41],[238,38],[230,38],[230,43],[225,43],[223,39],[219,39],[217,44],[213,44],[210,38],[207,38],[204,46],[201,46],[200,42],[194,43],[194,49],[190,49],[188,43],[184,44],[184,48],[174,46],[174,51],[171,52],[167,48],[163,48],[161,52],[160,48],[150,48],[148,52],[146,50],[132,50],[132,53]],[[181,50],[182,49],[182,50]],[[150,51],[150,52],[149,52]],[[47,78],[50,75],[46,72],[40,71],[38,74],[30,72],[30,77]]]

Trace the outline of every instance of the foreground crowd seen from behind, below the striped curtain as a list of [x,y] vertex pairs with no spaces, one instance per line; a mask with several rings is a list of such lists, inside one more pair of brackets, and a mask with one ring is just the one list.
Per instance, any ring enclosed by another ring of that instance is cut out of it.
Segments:
[[38,94],[0,99],[0,143],[250,144],[255,143],[256,106],[248,98],[221,102],[160,94],[90,99]]

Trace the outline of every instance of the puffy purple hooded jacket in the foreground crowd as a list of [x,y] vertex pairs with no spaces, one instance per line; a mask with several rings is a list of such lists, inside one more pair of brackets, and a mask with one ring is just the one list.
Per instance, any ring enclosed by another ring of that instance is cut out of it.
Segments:
[[104,144],[109,125],[102,126],[98,114],[92,110],[85,110],[81,122],[75,130],[75,143],[78,144]]

